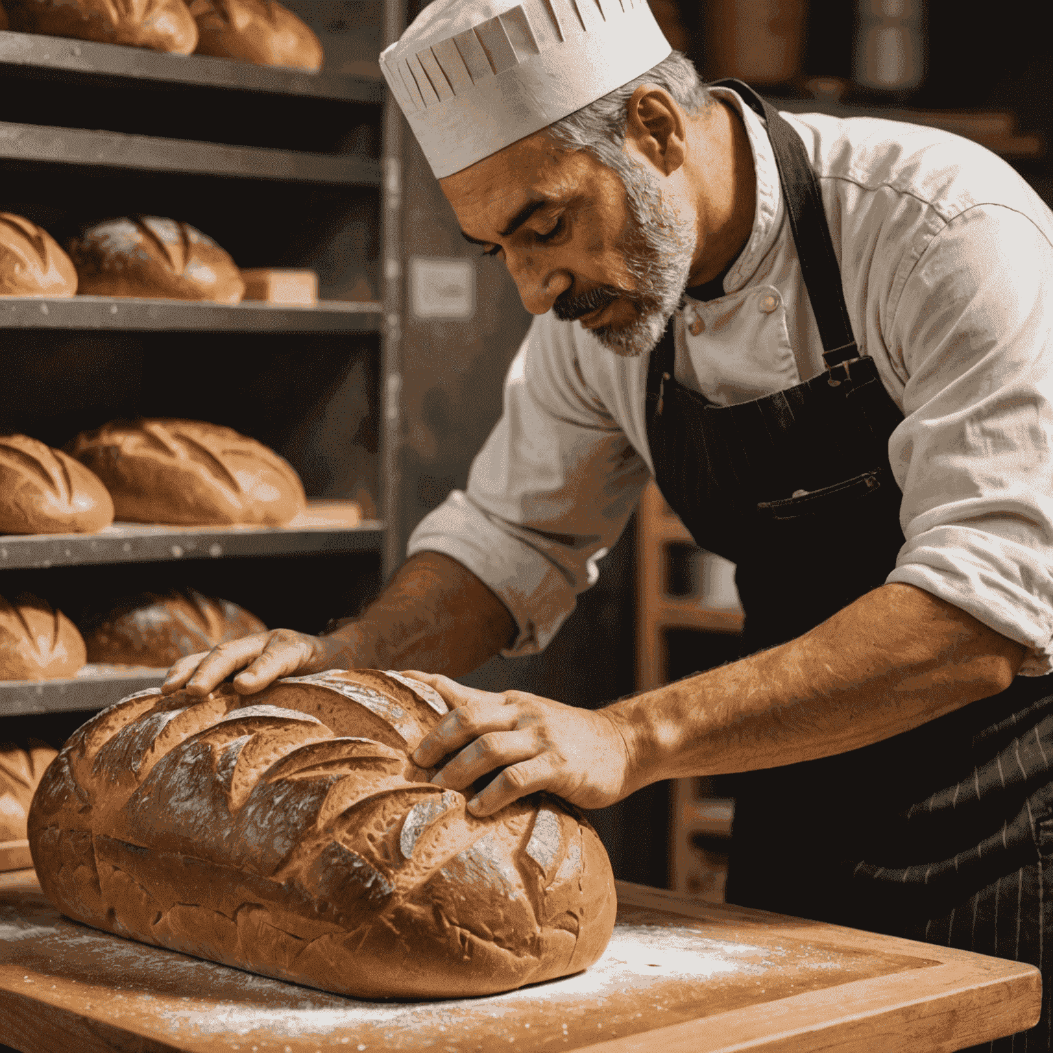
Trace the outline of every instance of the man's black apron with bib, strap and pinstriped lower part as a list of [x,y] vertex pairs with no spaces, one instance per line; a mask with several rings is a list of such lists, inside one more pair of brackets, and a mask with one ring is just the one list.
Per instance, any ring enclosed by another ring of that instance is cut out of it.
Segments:
[[[717,406],[676,381],[672,321],[651,355],[655,479],[695,541],[737,564],[746,655],[800,636],[895,567],[902,495],[888,449],[902,414],[856,349],[800,138],[747,85],[719,83],[768,121],[827,364]],[[1051,691],[1017,677],[883,742],[733,777],[728,900],[1032,962],[1041,1022],[984,1048],[1050,1050]]]

